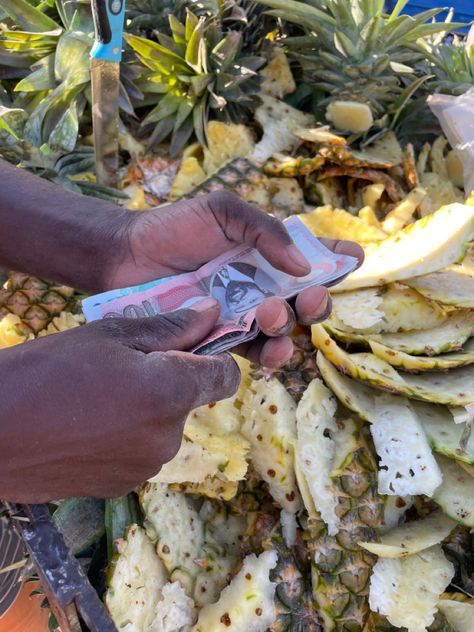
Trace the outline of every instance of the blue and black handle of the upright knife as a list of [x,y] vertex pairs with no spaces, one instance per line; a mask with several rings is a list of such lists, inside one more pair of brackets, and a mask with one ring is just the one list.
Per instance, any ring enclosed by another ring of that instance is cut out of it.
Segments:
[[122,58],[122,35],[125,0],[92,0],[95,41],[91,57],[119,62]]

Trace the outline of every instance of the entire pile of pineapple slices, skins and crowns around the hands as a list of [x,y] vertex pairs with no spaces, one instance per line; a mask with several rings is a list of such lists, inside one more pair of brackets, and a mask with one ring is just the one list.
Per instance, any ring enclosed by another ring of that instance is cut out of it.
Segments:
[[[474,205],[426,96],[474,86],[472,37],[400,1],[129,0],[121,184],[95,182],[88,2],[0,0],[0,156],[131,210],[228,189],[363,266],[278,371],[190,414],[108,501],[125,632],[471,632]],[[0,348],[80,326],[8,273]]]

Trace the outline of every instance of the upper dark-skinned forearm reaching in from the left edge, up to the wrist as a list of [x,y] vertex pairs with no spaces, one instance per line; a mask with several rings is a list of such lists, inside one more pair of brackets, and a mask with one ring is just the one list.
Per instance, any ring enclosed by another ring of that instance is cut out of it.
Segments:
[[124,246],[130,212],[0,160],[0,266],[90,291]]

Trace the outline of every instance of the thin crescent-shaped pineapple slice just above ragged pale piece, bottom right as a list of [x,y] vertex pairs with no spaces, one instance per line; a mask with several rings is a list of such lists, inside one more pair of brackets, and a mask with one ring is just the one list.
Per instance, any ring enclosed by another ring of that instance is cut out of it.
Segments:
[[359,542],[359,544],[379,557],[403,558],[439,544],[456,526],[457,523],[454,520],[436,511],[424,520],[407,522],[389,531],[380,538],[380,542]]

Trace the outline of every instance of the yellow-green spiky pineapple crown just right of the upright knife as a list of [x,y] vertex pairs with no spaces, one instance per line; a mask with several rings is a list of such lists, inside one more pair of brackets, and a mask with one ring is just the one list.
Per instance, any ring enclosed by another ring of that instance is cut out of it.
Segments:
[[219,22],[187,11],[185,23],[170,16],[171,36],[157,33],[158,42],[127,35],[126,40],[148,69],[144,92],[164,95],[143,125],[155,124],[149,146],[171,135],[170,153],[178,154],[193,132],[206,142],[206,123],[216,118],[241,121],[258,105],[265,59],[242,56],[242,34],[223,34]]

